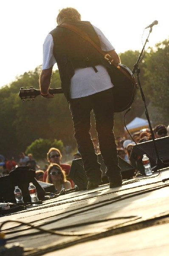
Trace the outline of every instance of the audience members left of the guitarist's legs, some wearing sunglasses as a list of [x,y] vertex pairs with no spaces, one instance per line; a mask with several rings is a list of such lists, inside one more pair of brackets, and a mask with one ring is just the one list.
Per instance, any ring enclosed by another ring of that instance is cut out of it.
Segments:
[[[71,189],[74,187],[74,182],[69,178],[69,172],[71,165],[68,163],[61,163],[62,154],[58,148],[50,148],[47,153],[48,163],[41,169],[41,167],[34,160],[32,154],[25,155],[24,152],[20,153],[20,159],[18,162],[14,160],[14,157],[5,161],[2,166],[2,172],[0,176],[8,175],[12,170],[18,166],[29,166],[30,169],[36,173],[36,179],[38,181],[52,183],[55,186],[56,192],[64,189]],[[73,154],[72,160],[81,158],[79,152]]]

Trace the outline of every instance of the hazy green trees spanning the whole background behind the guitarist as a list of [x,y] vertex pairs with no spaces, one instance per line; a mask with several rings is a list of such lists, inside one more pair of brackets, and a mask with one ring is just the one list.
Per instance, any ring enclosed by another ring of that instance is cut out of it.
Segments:
[[[129,50],[121,53],[121,63],[132,70],[138,56],[138,51]],[[156,112],[159,112],[161,115],[156,117],[156,122],[168,125],[166,122],[169,120],[169,40],[156,44],[155,49],[150,48],[139,67],[141,70],[139,77],[146,95],[146,104],[151,99],[152,107],[155,109],[150,119],[152,120],[153,116],[155,119]],[[0,89],[0,153],[5,157],[18,158],[19,153],[26,150],[28,153],[32,152],[37,160],[39,157],[45,158],[44,154],[55,140],[62,141],[64,146],[71,145],[72,148],[76,148],[71,113],[63,94],[57,94],[54,99],[49,100],[37,96],[34,101],[25,103],[18,96],[20,87],[32,86],[39,89],[40,71],[41,66],[36,67],[35,70],[18,76],[10,86],[6,85]],[[55,70],[52,74],[51,88],[57,87],[61,87],[61,82],[59,72]],[[119,100],[122,98],[121,95],[119,95]],[[137,90],[135,102],[125,118],[126,124],[136,116],[140,117],[142,113],[144,113],[144,105],[140,90]],[[123,134],[123,119],[124,113],[115,113],[115,135]],[[92,137],[96,137],[93,115],[91,122]],[[42,152],[39,149],[34,152],[30,151],[31,149],[28,148],[36,140],[47,140],[50,145],[48,144]],[[57,147],[59,148],[59,145]]]

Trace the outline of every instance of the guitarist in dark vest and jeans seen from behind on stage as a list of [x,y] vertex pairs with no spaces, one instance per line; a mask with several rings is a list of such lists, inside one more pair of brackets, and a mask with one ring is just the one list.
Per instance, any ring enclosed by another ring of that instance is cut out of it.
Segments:
[[[81,21],[81,15],[76,9],[60,10],[57,23],[70,23],[81,29],[98,47],[109,54],[115,63],[121,62],[115,48],[103,33],[90,22]],[[110,188],[121,186],[122,179],[113,133],[113,84],[104,57],[81,36],[65,27],[57,26],[47,35],[43,45],[39,85],[41,95],[45,99],[54,97],[49,93],[49,86],[55,63],[58,65],[63,92],[70,104],[74,136],[88,177],[87,189],[97,188],[101,184],[102,175],[90,135],[91,111],[95,116],[99,147],[107,167],[106,175],[110,181]]]

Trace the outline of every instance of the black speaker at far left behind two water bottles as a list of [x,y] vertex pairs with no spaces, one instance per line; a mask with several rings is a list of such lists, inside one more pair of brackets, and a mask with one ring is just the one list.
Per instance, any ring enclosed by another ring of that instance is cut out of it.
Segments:
[[32,182],[37,189],[39,200],[45,199],[45,190],[35,179],[35,171],[29,169],[29,166],[19,166],[9,173],[9,175],[0,177],[0,200],[6,203],[16,203],[14,197],[15,186],[18,186],[23,194],[23,201],[31,202],[28,187]]

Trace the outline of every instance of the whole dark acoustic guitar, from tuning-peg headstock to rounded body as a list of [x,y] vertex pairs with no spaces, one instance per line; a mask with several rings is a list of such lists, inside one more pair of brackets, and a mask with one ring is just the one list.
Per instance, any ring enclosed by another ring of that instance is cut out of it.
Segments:
[[[136,83],[131,70],[123,64],[118,66],[125,72],[121,72],[118,67],[110,64],[108,72],[113,83],[113,101],[114,101],[114,112],[122,112],[130,108],[135,100],[136,95]],[[127,76],[125,75],[127,73]],[[49,89],[49,93],[57,94],[63,93],[62,88]],[[30,89],[23,87],[20,88],[19,96],[25,100],[35,99],[36,96],[40,95],[40,90],[30,87]]]

